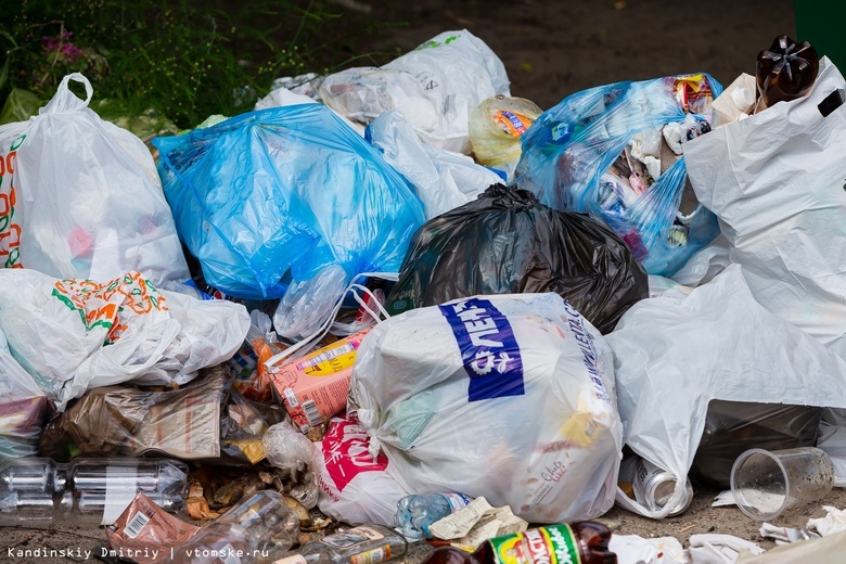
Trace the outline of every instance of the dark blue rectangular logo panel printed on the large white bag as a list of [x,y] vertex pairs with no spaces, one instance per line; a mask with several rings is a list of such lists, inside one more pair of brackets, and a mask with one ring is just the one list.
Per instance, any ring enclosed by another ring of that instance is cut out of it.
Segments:
[[469,298],[438,306],[470,376],[469,401],[522,396],[523,358],[511,323],[493,304]]

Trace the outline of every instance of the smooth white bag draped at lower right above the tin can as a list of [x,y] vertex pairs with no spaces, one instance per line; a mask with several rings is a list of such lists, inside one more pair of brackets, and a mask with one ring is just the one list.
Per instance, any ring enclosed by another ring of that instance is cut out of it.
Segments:
[[688,296],[639,302],[605,338],[626,444],[677,478],[663,512],[617,489],[620,505],[649,517],[682,499],[710,400],[846,406],[846,360],[760,306],[739,265]]

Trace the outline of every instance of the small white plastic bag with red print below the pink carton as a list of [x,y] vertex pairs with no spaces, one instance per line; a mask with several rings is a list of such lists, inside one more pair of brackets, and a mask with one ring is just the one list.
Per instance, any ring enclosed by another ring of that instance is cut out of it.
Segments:
[[368,441],[357,421],[332,419],[320,444],[323,465],[318,507],[344,523],[393,527],[397,502],[408,491],[386,472],[385,454],[373,457],[368,451]]

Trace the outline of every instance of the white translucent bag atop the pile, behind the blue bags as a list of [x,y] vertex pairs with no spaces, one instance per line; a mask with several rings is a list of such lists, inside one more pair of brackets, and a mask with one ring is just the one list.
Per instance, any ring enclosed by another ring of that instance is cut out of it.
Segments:
[[427,144],[470,154],[470,113],[510,90],[502,61],[462,29],[438,34],[381,67],[329,75],[318,94],[329,107],[363,125],[397,110]]

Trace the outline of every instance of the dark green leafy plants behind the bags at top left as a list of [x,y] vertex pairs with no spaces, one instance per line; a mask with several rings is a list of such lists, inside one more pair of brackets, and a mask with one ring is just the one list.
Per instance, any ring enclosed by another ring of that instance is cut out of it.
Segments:
[[349,63],[351,34],[384,30],[361,18],[350,28],[328,0],[232,4],[21,0],[0,21],[0,100],[12,88],[47,100],[81,72],[112,112],[153,111],[191,128],[251,110],[277,77]]

